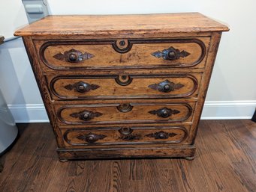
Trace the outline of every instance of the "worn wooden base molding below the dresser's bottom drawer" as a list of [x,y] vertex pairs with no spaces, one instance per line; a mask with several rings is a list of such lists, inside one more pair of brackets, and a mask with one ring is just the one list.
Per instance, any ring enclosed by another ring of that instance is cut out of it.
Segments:
[[59,161],[113,158],[185,158],[194,159],[195,146],[158,146],[108,149],[57,149]]

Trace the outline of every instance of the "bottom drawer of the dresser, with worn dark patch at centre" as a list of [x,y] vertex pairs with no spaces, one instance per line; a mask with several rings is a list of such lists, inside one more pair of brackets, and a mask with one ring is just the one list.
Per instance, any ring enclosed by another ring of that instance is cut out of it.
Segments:
[[182,143],[188,137],[189,127],[108,127],[62,128],[65,146],[123,145],[146,143]]

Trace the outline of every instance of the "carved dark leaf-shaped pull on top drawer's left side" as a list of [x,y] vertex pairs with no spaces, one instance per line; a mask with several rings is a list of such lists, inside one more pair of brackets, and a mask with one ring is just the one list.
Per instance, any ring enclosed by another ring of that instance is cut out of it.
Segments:
[[64,54],[62,53],[58,53],[56,55],[53,56],[53,58],[56,58],[60,61],[67,61],[70,63],[78,63],[90,58],[93,58],[95,55],[92,55],[89,52],[80,52],[77,51],[76,49],[71,49],[69,51],[64,52]]

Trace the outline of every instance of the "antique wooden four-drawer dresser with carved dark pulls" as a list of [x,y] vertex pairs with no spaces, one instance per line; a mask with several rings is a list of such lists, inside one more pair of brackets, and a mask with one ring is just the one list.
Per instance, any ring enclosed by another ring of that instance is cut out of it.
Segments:
[[193,159],[222,31],[200,13],[47,16],[16,31],[60,161]]

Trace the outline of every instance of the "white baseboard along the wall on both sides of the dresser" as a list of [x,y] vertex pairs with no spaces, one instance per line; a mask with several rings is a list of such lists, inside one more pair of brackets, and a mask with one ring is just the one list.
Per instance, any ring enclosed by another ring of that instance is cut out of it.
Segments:
[[[49,119],[43,104],[8,105],[16,123],[47,123]],[[256,101],[206,102],[201,120],[251,119]]]

